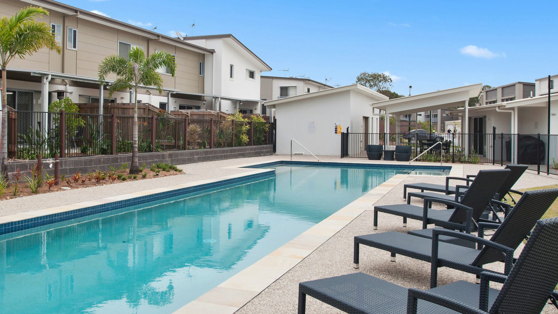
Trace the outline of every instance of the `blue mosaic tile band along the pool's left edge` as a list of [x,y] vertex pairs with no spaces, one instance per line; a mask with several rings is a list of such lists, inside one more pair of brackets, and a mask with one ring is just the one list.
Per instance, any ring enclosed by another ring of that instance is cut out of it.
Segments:
[[0,224],[0,235],[9,234],[11,232],[21,231],[21,230],[26,230],[26,229],[31,229],[31,228],[35,228],[35,227],[40,227],[40,226],[44,226],[44,225],[50,225],[51,223],[56,223],[56,222],[71,220],[71,219],[75,219],[75,218],[95,215],[95,214],[98,214],[98,213],[118,210],[120,208],[127,207],[127,206],[133,206],[133,205],[138,205],[138,204],[152,202],[152,201],[158,201],[160,199],[167,198],[167,197],[180,196],[180,195],[187,194],[187,193],[192,193],[192,192],[201,192],[201,191],[205,191],[207,189],[221,187],[223,185],[245,182],[245,181],[248,181],[248,180],[267,177],[267,176],[270,176],[272,174],[275,174],[275,170],[270,170],[270,171],[267,171],[267,172],[262,172],[262,173],[257,173],[257,174],[244,175],[243,177],[225,179],[225,180],[220,180],[220,181],[217,181],[217,182],[194,185],[193,187],[180,188],[180,189],[175,189],[175,190],[172,190],[172,191],[166,191],[166,192],[155,193],[155,194],[146,195],[146,196],[139,196],[139,197],[134,197],[134,198],[130,198],[130,199],[124,199],[123,201],[116,201],[116,202],[110,202],[110,203],[106,203],[106,204],[99,204],[99,205],[95,205],[95,206],[91,206],[91,207],[79,208],[78,210],[71,210],[71,211],[66,211],[66,212],[61,212],[61,213],[55,213],[55,214],[52,214],[52,215],[45,215],[45,216],[41,216],[41,217],[29,218],[29,219],[26,219],[26,220],[1,223]]

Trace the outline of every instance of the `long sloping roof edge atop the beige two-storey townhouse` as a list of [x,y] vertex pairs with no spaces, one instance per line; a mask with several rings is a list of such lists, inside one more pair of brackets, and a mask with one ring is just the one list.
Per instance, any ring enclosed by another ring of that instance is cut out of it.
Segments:
[[199,53],[213,54],[215,50],[207,49],[198,45],[191,44],[190,42],[184,42],[175,37],[159,34],[154,31],[146,30],[145,28],[138,27],[132,24],[128,24],[122,21],[114,20],[114,18],[98,15],[97,13],[89,12],[86,9],[80,9],[68,4],[53,1],[53,0],[21,0],[23,2],[31,3],[35,6],[44,7],[47,9],[52,9],[57,12],[62,12],[68,15],[75,15],[79,18],[84,18],[85,20],[103,23],[104,25],[122,29],[124,31],[132,32],[133,34],[138,34],[141,36],[148,37],[150,39],[158,39],[168,44],[175,46],[182,46],[186,49],[195,50]]

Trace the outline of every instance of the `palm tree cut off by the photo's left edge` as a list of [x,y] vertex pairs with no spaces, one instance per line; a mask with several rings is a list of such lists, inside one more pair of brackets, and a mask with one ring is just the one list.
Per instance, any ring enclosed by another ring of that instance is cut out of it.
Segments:
[[11,17],[0,18],[0,67],[2,67],[2,140],[0,141],[0,163],[2,172],[6,172],[8,159],[8,105],[6,90],[6,67],[16,56],[25,59],[40,49],[47,47],[62,53],[62,47],[56,41],[47,23],[37,22],[35,18],[49,15],[49,11],[39,7],[22,8]]

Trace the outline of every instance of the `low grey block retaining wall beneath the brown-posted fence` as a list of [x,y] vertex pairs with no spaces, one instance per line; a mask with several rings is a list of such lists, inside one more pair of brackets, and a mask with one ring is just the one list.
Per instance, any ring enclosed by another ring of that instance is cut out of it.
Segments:
[[[193,164],[202,161],[224,160],[232,158],[243,157],[256,157],[268,156],[273,154],[273,145],[258,145],[258,146],[243,146],[235,148],[214,148],[214,149],[196,149],[196,150],[178,150],[178,151],[163,151],[160,153],[141,153],[138,155],[138,160],[141,164],[168,163],[172,165]],[[121,155],[100,155],[89,157],[75,157],[75,158],[61,158],[60,159],[60,175],[74,174],[78,171],[81,173],[94,172],[97,169],[101,171],[108,170],[109,166],[121,166],[131,163],[132,154]],[[12,173],[16,169],[21,172],[27,172],[32,169],[37,163],[36,160],[25,161],[10,161],[8,163],[8,173],[12,179]],[[49,168],[48,164],[44,163],[46,173],[54,174],[54,166]],[[27,173],[26,173],[27,175]]]

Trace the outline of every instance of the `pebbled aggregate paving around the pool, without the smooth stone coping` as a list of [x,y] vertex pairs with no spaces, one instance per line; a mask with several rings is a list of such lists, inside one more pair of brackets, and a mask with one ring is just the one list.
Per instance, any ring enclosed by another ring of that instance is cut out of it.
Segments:
[[[44,208],[62,206],[76,202],[91,201],[93,199],[115,196],[166,187],[174,184],[193,182],[197,180],[222,177],[235,173],[248,172],[249,169],[223,168],[228,166],[257,163],[275,159],[288,159],[288,155],[273,155],[254,158],[229,159],[208,161],[188,165],[178,165],[184,169],[184,174],[173,175],[165,178],[153,178],[137,182],[124,182],[118,185],[103,185],[99,187],[75,189],[63,192],[39,194],[35,196],[8,199],[0,202],[0,216],[11,215],[27,211],[41,210]],[[295,160],[314,160],[312,156],[296,156]],[[348,161],[354,163],[368,163],[367,159],[339,159],[337,156],[320,156],[322,161]],[[383,163],[383,161],[374,161]],[[387,163],[397,163],[389,161]],[[407,164],[407,163],[405,163]],[[436,165],[434,163],[416,163]],[[451,165],[451,164],[448,164]],[[492,165],[463,165],[465,174],[476,174],[480,169],[501,168]],[[407,182],[443,183],[440,177],[409,177],[403,183],[393,188],[376,204],[403,203],[403,184]],[[536,175],[527,172],[514,186],[516,189],[538,187],[542,185],[558,184],[555,175]],[[417,201],[417,204],[418,201]],[[373,207],[371,206],[371,210]],[[372,229],[373,212],[366,211],[353,220],[344,229],[339,231],[320,248],[316,249],[301,263],[292,268],[267,289],[252,299],[237,311],[243,313],[296,313],[298,283],[305,280],[331,277],[334,275],[348,274],[357,270],[352,267],[353,237],[374,232],[414,230],[421,228],[421,222],[409,220],[408,227],[402,227],[400,217],[379,215],[379,230]],[[519,250],[518,250],[519,251]],[[429,286],[430,264],[406,256],[398,256],[397,262],[389,261],[389,253],[373,248],[361,246],[360,269],[358,271],[386,279],[389,282],[400,284],[404,287],[426,289]],[[500,265],[489,265],[488,268],[499,269]],[[452,269],[442,268],[439,271],[439,284],[454,282],[455,280],[474,280],[474,275],[466,274]],[[543,313],[555,313],[552,307],[547,306]],[[315,299],[307,298],[307,313],[338,313],[339,311]]]

